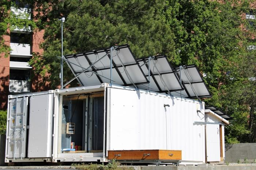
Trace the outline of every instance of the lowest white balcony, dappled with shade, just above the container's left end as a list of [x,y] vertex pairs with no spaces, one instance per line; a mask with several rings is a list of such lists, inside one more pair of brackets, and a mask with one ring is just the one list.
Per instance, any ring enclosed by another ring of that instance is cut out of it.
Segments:
[[14,93],[30,92],[30,81],[9,80],[9,92],[14,92]]

